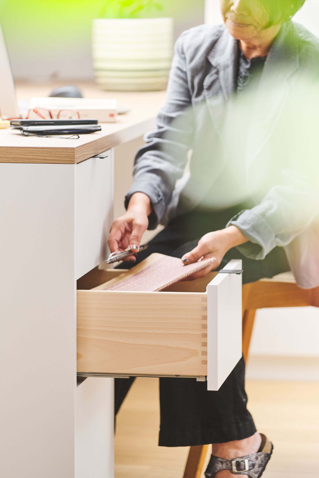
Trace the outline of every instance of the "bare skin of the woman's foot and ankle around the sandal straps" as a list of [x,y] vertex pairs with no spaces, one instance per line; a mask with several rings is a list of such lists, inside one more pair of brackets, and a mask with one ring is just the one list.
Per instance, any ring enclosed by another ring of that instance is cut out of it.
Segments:
[[[262,437],[258,432],[249,438],[243,440],[236,440],[228,443],[214,443],[212,445],[212,454],[219,456],[220,458],[226,458],[227,460],[233,460],[240,456],[251,455],[257,453],[262,442]],[[233,473],[229,470],[221,470],[216,473],[216,478],[231,478]],[[249,478],[248,475],[241,475],[243,478]]]

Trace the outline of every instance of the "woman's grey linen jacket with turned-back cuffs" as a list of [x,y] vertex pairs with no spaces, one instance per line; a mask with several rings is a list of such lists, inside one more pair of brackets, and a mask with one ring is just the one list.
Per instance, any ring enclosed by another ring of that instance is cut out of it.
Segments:
[[[165,106],[136,154],[125,198],[127,207],[135,192],[150,197],[150,229],[194,210],[233,160],[237,59],[238,43],[224,25],[201,25],[177,40]],[[284,247],[304,288],[319,286],[318,65],[319,40],[301,25],[284,23],[244,115],[241,181],[255,206],[227,224],[249,239],[239,246],[249,258]]]

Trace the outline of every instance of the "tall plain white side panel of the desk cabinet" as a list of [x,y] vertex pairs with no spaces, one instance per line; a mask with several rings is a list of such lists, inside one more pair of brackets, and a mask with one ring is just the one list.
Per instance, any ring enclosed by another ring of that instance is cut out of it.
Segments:
[[74,476],[74,165],[0,164],[0,476]]

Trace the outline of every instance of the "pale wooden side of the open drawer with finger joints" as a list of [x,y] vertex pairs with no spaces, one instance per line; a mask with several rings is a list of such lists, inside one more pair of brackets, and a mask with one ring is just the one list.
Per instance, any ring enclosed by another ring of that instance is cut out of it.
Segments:
[[207,295],[78,291],[77,371],[207,374]]

